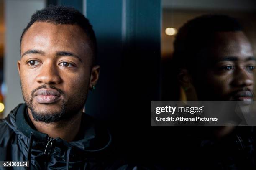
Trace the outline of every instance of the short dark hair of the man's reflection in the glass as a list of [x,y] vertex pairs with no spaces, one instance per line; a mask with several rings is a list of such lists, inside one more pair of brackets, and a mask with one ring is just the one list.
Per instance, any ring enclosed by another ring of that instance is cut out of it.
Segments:
[[238,20],[227,15],[202,15],[185,23],[174,40],[176,71],[186,68],[192,73],[200,52],[210,45],[214,33],[227,31],[243,31],[243,28]]

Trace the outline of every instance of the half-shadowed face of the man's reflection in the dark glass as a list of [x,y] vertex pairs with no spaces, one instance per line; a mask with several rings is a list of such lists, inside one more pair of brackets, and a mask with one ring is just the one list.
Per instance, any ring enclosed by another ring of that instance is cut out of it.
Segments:
[[209,59],[198,76],[205,77],[195,86],[203,100],[253,100],[256,65],[248,39],[241,31],[217,32]]

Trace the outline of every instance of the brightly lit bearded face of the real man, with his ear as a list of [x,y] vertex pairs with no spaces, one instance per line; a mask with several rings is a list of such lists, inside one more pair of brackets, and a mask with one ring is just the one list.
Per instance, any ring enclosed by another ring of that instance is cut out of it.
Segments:
[[23,99],[36,121],[69,119],[83,109],[99,68],[77,25],[35,22],[24,34],[18,61]]

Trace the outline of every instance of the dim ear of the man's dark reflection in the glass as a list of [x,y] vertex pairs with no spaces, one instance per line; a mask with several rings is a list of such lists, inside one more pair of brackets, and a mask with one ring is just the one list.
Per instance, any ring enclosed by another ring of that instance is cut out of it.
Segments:
[[179,69],[178,80],[179,80],[179,84],[184,89],[189,89],[192,85],[192,77],[190,76],[187,69]]

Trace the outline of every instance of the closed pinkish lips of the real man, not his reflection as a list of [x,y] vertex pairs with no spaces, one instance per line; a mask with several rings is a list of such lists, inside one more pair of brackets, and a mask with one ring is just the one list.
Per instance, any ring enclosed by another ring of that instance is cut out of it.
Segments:
[[59,101],[61,94],[55,89],[40,89],[34,93],[36,101],[41,104],[50,104]]

